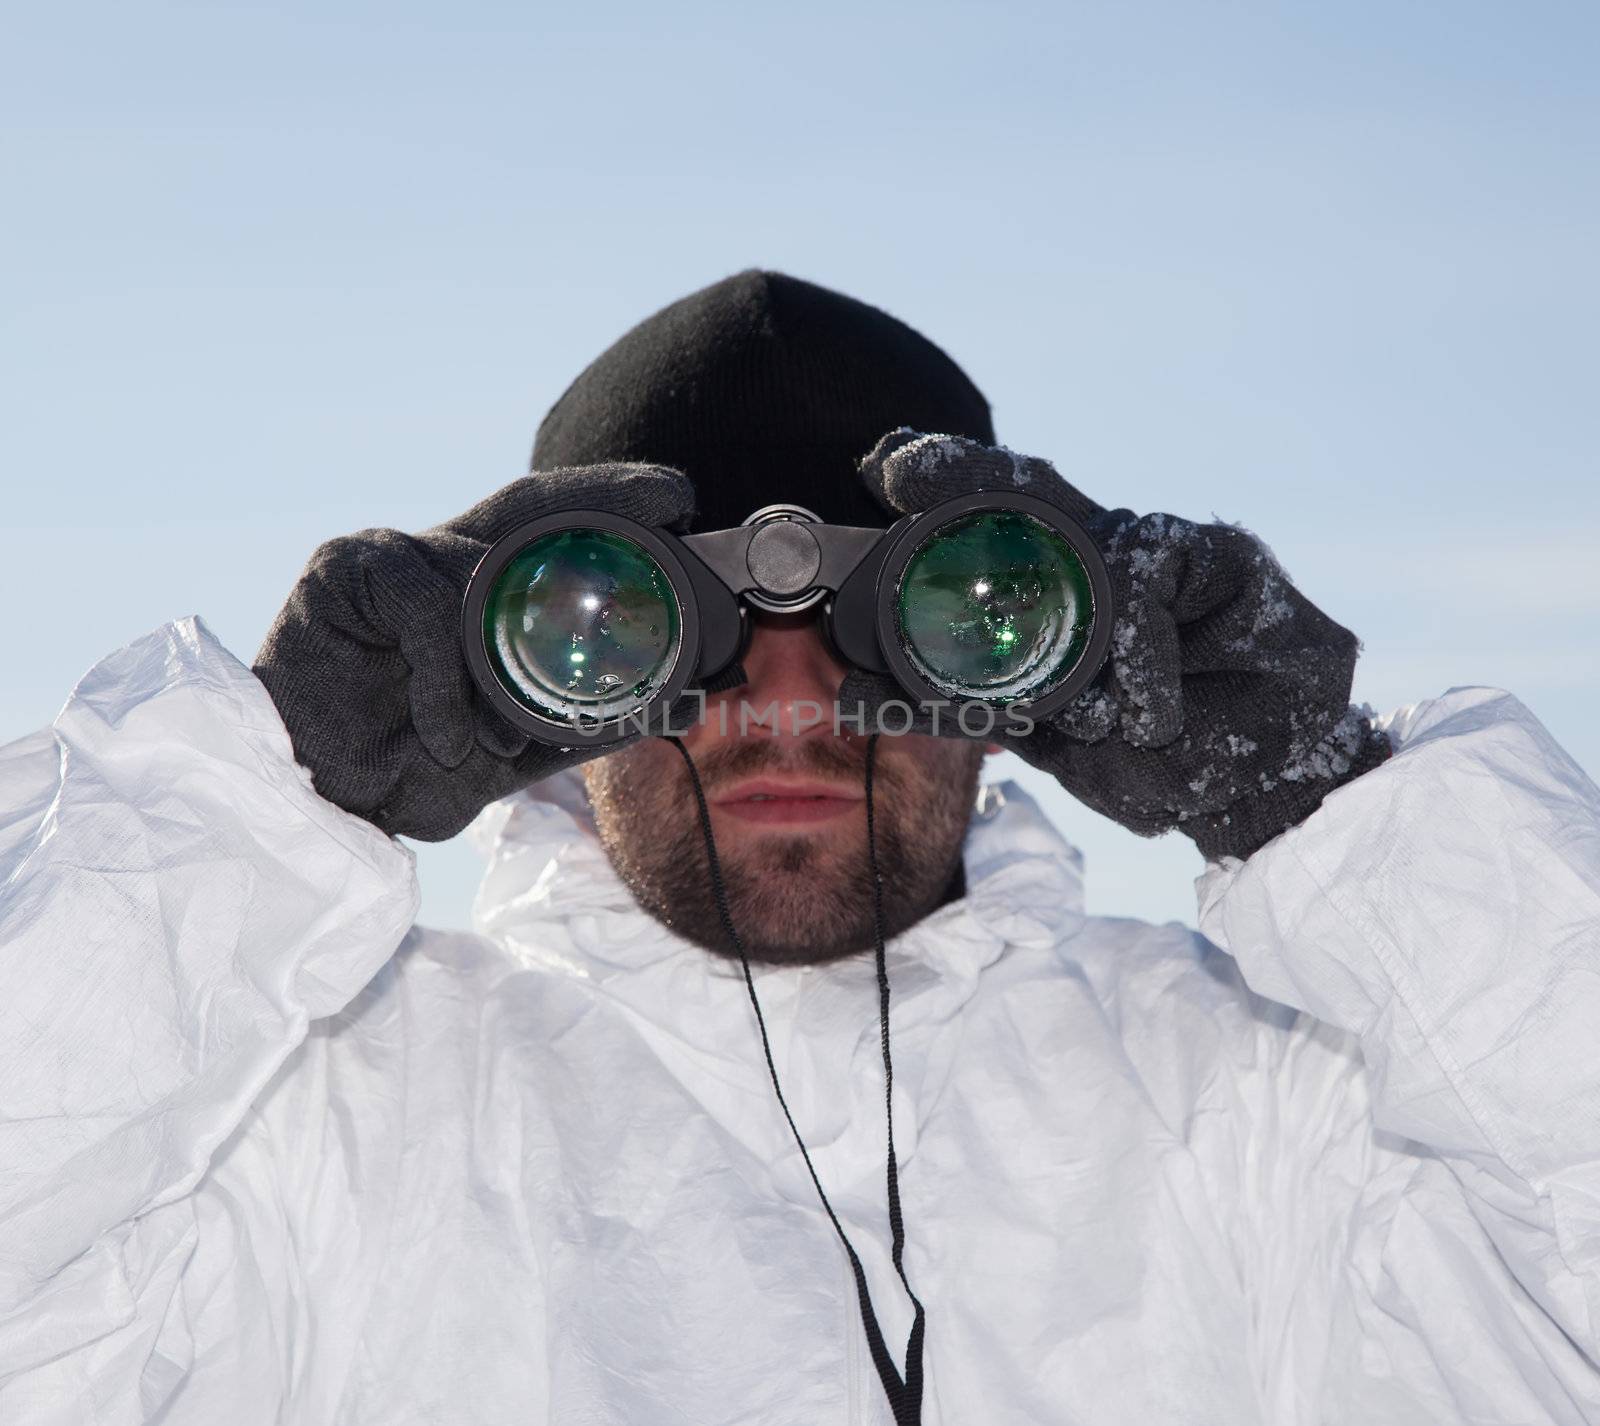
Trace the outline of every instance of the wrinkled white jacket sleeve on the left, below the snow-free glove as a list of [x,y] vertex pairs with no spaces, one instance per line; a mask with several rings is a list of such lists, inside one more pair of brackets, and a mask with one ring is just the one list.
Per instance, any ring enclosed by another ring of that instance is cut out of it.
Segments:
[[160,1413],[197,1183],[414,912],[411,855],[315,794],[197,619],[0,749],[0,1418]]

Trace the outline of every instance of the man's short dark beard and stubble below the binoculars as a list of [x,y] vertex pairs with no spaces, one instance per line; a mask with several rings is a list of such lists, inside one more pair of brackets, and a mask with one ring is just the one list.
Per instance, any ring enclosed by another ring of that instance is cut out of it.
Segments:
[[[981,744],[952,741],[926,760],[909,749],[891,751],[893,741],[880,741],[872,775],[885,938],[922,920],[960,887],[962,839],[982,765]],[[659,759],[642,752],[626,749],[586,770],[600,842],[645,911],[707,951],[738,955],[717,907],[688,770],[677,754],[664,771]],[[859,787],[866,744],[832,738],[714,744],[694,767],[707,802],[734,781],[766,773]],[[750,960],[819,963],[874,944],[866,802],[859,808],[859,837],[774,831],[718,840],[730,919]]]

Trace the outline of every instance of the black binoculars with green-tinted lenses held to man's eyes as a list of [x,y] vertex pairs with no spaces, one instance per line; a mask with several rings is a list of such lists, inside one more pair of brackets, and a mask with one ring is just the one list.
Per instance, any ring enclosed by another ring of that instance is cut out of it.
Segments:
[[558,511],[498,539],[467,584],[462,647],[483,696],[557,746],[658,731],[742,655],[750,610],[816,610],[835,658],[920,704],[1046,717],[1099,671],[1110,578],[1046,501],[979,491],[888,530],[765,506],[674,535]]

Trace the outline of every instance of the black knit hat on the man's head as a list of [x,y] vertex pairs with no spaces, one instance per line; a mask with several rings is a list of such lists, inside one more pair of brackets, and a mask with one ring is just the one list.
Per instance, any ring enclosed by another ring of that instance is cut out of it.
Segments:
[[898,426],[994,443],[989,402],[925,336],[750,269],[662,307],[590,362],[539,423],[533,469],[672,466],[694,483],[696,530],[776,503],[883,527],[856,463]]

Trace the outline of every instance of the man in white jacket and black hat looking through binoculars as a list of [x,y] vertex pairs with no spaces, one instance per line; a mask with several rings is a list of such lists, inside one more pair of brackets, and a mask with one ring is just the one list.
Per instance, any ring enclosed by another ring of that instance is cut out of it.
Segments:
[[[254,671],[182,621],[0,754],[0,1420],[1600,1420],[1600,792],[1526,709],[1352,711],[1251,536],[1094,506],[776,274],[624,336],[533,466],[323,546]],[[997,482],[1118,602],[1011,746],[1192,835],[1205,935],[1086,917],[952,720],[800,727],[893,695],[803,618],[706,691],[762,725],[587,760],[461,664],[531,514]],[[411,928],[389,834],[474,818],[478,933]]]

